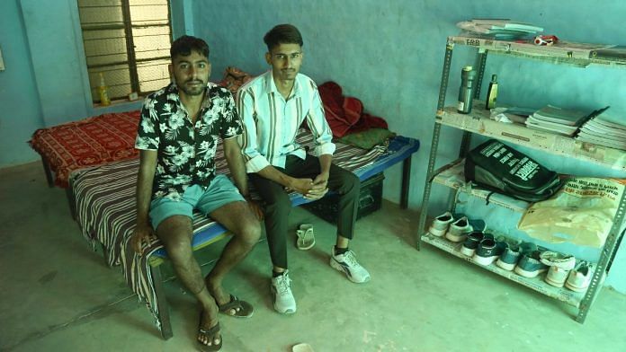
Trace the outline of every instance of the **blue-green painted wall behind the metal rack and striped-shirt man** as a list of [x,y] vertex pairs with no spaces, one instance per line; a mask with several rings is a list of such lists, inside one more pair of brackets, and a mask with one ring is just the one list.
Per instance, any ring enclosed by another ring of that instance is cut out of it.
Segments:
[[[384,117],[389,128],[422,141],[414,156],[410,207],[422,202],[425,170],[433,136],[434,112],[443,68],[446,37],[459,33],[455,23],[471,18],[510,18],[543,26],[562,40],[626,45],[626,3],[570,1],[451,0],[240,0],[196,1],[196,35],[212,48],[212,79],[226,66],[252,74],[264,72],[263,36],[273,25],[291,22],[304,36],[302,72],[317,84],[334,80],[348,95],[362,99],[366,110]],[[452,57],[448,104],[456,99],[461,66],[474,62],[470,48],[457,47]],[[498,74],[502,103],[541,108],[548,103],[595,110],[611,105],[626,116],[626,70],[555,66],[537,61],[489,57],[487,75]],[[487,84],[487,83],[485,83]],[[485,90],[483,89],[483,92]],[[458,155],[461,132],[443,128],[438,165]],[[478,139],[474,143],[478,143]],[[555,155],[520,148],[558,172],[626,177]],[[399,200],[399,166],[386,173],[384,197]],[[443,210],[447,190],[434,187],[431,214]],[[517,215],[519,217],[519,215]],[[495,221],[516,219],[498,214]],[[398,221],[402,221],[398,219]],[[585,255],[597,255],[587,249]],[[607,283],[626,293],[626,250],[619,252]]]

